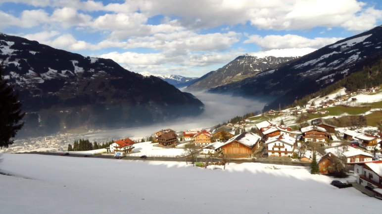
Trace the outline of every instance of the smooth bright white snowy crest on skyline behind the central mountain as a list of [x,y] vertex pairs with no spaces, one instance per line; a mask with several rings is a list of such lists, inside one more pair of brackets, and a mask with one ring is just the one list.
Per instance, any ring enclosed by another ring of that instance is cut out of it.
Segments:
[[275,57],[295,57],[295,56],[304,56],[309,54],[317,49],[315,48],[286,48],[286,49],[272,49],[268,51],[259,51],[248,53],[251,56],[257,57],[266,57],[266,56],[275,56]]

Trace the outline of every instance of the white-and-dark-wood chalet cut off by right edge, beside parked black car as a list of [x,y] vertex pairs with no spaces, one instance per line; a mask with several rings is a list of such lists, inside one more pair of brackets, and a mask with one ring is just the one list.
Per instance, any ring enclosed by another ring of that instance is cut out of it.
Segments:
[[354,164],[354,175],[362,186],[369,186],[375,197],[382,199],[382,161]]

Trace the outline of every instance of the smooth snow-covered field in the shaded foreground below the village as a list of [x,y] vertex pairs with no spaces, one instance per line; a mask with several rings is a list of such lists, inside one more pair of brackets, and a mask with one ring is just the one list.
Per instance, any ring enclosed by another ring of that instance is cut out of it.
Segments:
[[381,201],[304,167],[3,154],[1,214],[380,214]]

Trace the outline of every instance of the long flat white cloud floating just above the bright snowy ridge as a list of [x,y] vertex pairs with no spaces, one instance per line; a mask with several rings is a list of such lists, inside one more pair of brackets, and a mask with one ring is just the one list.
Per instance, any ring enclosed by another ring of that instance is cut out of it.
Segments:
[[252,35],[249,36],[247,40],[243,43],[254,43],[261,47],[263,50],[270,49],[285,49],[285,48],[321,48],[328,44],[332,44],[342,38],[332,37],[316,37],[314,39],[310,39],[303,36],[298,35],[268,35],[268,36],[259,36]]

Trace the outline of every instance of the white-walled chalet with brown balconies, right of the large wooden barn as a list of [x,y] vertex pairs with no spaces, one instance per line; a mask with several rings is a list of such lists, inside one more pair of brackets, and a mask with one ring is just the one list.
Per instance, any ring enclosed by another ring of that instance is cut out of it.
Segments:
[[264,145],[267,146],[268,156],[292,156],[297,146],[296,139],[288,135],[280,135],[269,138]]

